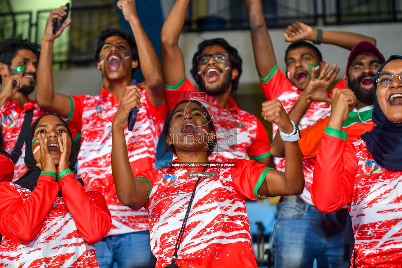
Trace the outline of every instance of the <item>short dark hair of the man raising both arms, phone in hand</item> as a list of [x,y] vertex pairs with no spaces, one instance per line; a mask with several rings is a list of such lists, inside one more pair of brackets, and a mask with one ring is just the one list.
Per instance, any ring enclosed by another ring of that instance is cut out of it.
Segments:
[[138,61],[137,68],[133,69],[133,71],[132,71],[131,75],[133,75],[135,70],[139,69],[139,56],[138,56],[137,44],[135,43],[134,36],[131,33],[124,31],[122,29],[107,28],[107,29],[103,30],[102,32],[100,32],[99,37],[98,37],[98,43],[96,44],[95,61],[96,62],[99,61],[100,50],[102,49],[103,44],[105,43],[105,40],[111,36],[119,36],[119,37],[125,39],[125,41],[127,41],[128,45],[130,46],[133,59],[136,59]]

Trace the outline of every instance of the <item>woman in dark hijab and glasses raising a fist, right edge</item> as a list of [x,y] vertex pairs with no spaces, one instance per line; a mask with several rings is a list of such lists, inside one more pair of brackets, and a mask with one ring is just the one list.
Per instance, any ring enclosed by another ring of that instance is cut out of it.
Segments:
[[354,267],[402,264],[402,56],[391,56],[374,78],[373,130],[345,142],[342,125],[356,103],[334,90],[331,115],[314,169],[312,200],[330,213],[348,205]]

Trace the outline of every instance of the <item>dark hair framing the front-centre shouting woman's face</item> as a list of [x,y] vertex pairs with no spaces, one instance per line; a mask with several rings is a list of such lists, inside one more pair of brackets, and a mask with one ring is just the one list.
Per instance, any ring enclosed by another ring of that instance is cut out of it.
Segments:
[[[184,102],[195,102],[195,103],[199,104],[199,106],[201,106],[201,108],[204,110],[204,112],[205,112],[206,115],[207,115],[206,118],[207,118],[207,121],[209,122],[209,123],[208,123],[208,128],[209,128],[209,130],[215,132],[215,126],[213,125],[212,118],[211,118],[211,116],[209,115],[208,110],[205,108],[205,106],[204,106],[203,104],[201,104],[201,102],[199,102],[198,100],[182,100],[182,101],[178,102],[178,103],[174,106],[174,108],[171,110],[170,114],[169,114],[168,117],[166,118],[165,124],[163,125],[162,131],[163,131],[164,136],[165,136],[165,146],[164,146],[164,150],[163,150],[163,152],[162,152],[162,155],[160,156],[159,159],[161,159],[169,150],[170,150],[172,153],[176,154],[176,149],[174,149],[174,145],[170,145],[170,146],[169,146],[169,145],[166,143],[166,137],[169,136],[170,122],[172,122],[174,110],[176,109],[176,107],[177,107],[179,104],[182,104],[182,103],[184,103]],[[217,148],[216,142],[217,142],[217,141],[216,141],[216,137],[215,137],[215,139],[214,139],[213,141],[208,141],[208,144],[207,144],[207,156],[208,156],[208,157],[216,150],[216,148]],[[212,145],[212,146],[211,146],[211,145]],[[210,149],[211,147],[214,147],[215,149]]]

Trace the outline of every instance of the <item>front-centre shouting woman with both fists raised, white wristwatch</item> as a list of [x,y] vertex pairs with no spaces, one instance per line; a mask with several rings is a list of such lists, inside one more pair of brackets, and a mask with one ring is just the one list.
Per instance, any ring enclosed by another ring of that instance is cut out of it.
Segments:
[[275,121],[287,135],[286,171],[253,160],[209,161],[216,149],[216,135],[222,133],[215,133],[204,105],[183,100],[166,119],[165,153],[171,150],[177,160],[166,168],[133,174],[124,129],[130,110],[139,106],[139,96],[135,88],[127,88],[113,121],[112,172],[117,197],[131,209],[148,209],[157,268],[256,268],[245,201],[301,193],[303,165],[293,135],[298,131],[281,102],[267,102],[265,119]]

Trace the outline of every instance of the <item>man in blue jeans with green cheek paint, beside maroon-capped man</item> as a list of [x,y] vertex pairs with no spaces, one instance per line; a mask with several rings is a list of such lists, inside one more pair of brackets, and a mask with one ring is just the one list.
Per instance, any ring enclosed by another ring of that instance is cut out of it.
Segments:
[[[295,125],[299,125],[299,129],[313,125],[318,119],[328,116],[330,104],[327,102],[330,102],[330,96],[327,89],[339,69],[334,65],[326,74],[329,65],[322,60],[320,51],[304,40],[352,49],[361,41],[375,43],[375,39],[354,33],[322,31],[312,29],[304,23],[293,23],[285,30],[285,40],[293,42],[285,53],[285,75],[279,70],[275,59],[261,1],[246,0],[246,3],[254,58],[267,100],[279,99],[289,113],[289,118]],[[273,124],[274,135],[277,130],[277,125]],[[275,167],[283,170],[285,158],[279,157],[278,152],[283,150],[277,143],[280,139],[279,135],[274,137],[271,153]],[[283,142],[280,144],[283,145]],[[313,267],[316,258],[319,267],[321,264],[349,267],[350,262],[344,258],[347,211],[344,209],[325,215],[314,207],[310,189],[315,158],[305,159],[303,164],[303,193],[299,196],[283,197],[279,205],[279,215],[272,238],[275,267]]]

